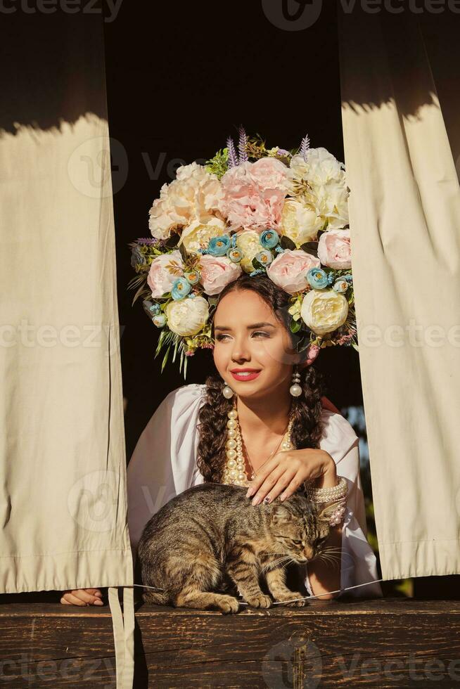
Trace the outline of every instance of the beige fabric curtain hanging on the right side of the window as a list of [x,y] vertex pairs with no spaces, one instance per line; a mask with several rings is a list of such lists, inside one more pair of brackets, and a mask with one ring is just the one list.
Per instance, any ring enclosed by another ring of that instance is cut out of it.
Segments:
[[[460,151],[458,130],[449,137],[444,119],[446,111],[458,127],[459,62],[448,60],[456,18],[339,13],[359,358],[383,578],[459,574]],[[437,48],[445,61],[432,64]]]

